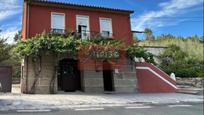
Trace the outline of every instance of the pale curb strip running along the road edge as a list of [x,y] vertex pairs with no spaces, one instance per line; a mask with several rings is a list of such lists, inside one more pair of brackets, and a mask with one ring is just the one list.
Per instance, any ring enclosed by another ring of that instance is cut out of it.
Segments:
[[[165,105],[177,105],[177,104],[203,104],[202,101],[178,101],[178,102],[172,102],[172,103],[159,103],[159,102],[132,102],[132,103],[107,103],[107,104],[83,104],[83,105],[66,105],[66,108],[64,107],[47,107],[44,109],[5,109],[0,110],[0,113],[48,113],[53,111],[61,111],[61,110],[68,110],[73,108],[83,108],[83,107],[123,107],[123,106],[165,106]],[[65,105],[64,105],[65,106]]]

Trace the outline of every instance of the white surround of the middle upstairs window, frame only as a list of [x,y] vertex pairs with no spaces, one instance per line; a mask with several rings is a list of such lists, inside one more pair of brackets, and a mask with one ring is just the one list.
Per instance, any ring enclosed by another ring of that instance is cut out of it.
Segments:
[[85,17],[85,18],[87,18],[88,19],[88,24],[87,24],[87,32],[86,32],[86,34],[87,34],[87,39],[90,39],[90,18],[89,18],[89,16],[87,16],[87,15],[76,15],[76,31],[78,32],[78,18],[79,17]]

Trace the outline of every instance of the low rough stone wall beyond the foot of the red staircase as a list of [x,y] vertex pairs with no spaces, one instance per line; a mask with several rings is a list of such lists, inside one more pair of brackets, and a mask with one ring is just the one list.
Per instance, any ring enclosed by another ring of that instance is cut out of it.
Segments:
[[177,85],[179,87],[195,87],[203,88],[204,79],[203,78],[176,78]]

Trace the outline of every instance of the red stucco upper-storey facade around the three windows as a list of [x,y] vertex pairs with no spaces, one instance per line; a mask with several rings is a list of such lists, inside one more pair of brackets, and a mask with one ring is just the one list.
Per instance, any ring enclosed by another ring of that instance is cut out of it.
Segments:
[[65,29],[76,31],[76,16],[85,15],[89,17],[90,31],[100,32],[99,18],[110,18],[112,20],[113,37],[130,44],[133,41],[130,13],[98,10],[97,8],[61,7],[58,4],[46,5],[24,2],[23,12],[23,39],[31,38],[36,34],[51,31],[51,13],[65,14]]

